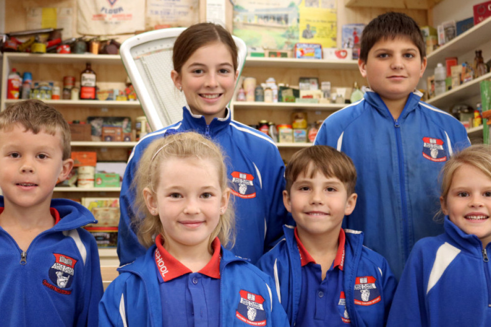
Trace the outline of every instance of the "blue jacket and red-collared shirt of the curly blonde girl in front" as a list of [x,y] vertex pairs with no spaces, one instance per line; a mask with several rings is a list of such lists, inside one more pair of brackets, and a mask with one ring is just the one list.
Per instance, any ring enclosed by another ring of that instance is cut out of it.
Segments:
[[212,246],[210,262],[192,273],[158,237],[118,269],[99,305],[100,326],[288,326],[271,278],[218,238]]

